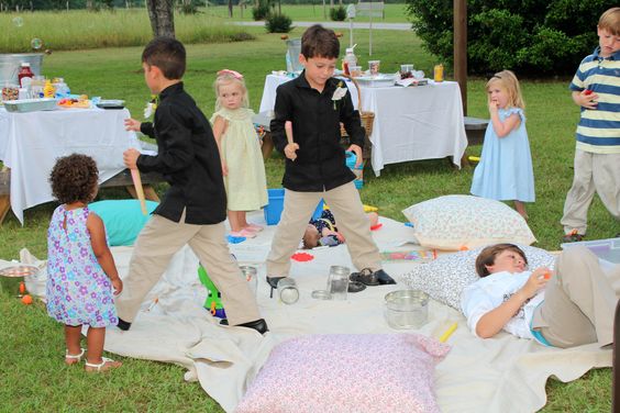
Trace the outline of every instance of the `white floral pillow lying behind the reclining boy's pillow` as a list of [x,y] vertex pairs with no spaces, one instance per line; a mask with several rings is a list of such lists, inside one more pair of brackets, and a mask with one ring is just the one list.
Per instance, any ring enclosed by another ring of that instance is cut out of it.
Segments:
[[517,211],[490,199],[445,196],[411,205],[402,213],[413,224],[420,245],[429,248],[458,250],[536,241]]

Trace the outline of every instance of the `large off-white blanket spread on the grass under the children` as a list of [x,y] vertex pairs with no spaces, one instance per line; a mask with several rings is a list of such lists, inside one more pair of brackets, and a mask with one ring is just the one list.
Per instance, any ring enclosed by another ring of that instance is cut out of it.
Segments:
[[[261,223],[258,215],[252,217]],[[402,223],[385,217],[380,222],[383,227],[373,235],[381,250],[399,249],[398,244],[412,238],[412,230]],[[265,337],[248,328],[217,325],[217,320],[202,308],[206,289],[197,277],[197,258],[184,248],[145,299],[132,328],[108,328],[106,349],[184,366],[186,379],[199,380],[204,391],[230,412],[270,349],[286,338],[303,334],[396,332],[385,322],[384,297],[403,288],[402,284],[367,288],[341,302],[310,297],[312,290],[325,288],[329,266],[352,267],[344,245],[312,250],[313,260],[292,264],[291,275],[301,292],[299,302],[286,305],[269,299],[264,260],[274,232],[275,227],[267,227],[256,238],[231,246],[240,263],[258,268],[257,301],[270,328]],[[414,248],[408,244],[400,249]],[[112,252],[121,276],[126,275],[132,248],[115,247]],[[385,269],[398,278],[412,265],[418,264],[385,263]],[[418,332],[439,337],[455,321],[458,328],[449,339],[453,348],[435,370],[435,392],[443,412],[536,411],[545,404],[545,382],[550,376],[571,381],[590,368],[611,366],[611,350],[597,345],[546,348],[506,333],[479,339],[468,331],[458,312],[434,301],[430,303],[429,323]]]

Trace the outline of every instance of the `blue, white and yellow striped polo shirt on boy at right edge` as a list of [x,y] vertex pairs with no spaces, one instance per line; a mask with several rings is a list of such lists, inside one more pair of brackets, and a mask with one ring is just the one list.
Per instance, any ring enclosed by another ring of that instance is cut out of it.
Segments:
[[596,110],[582,108],[577,148],[595,154],[620,154],[620,51],[609,57],[600,47],[582,60],[571,82],[573,91],[598,94]]

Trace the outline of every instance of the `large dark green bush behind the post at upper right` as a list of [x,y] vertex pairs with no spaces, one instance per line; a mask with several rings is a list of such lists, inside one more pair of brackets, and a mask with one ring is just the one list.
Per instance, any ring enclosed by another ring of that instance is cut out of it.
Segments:
[[[406,0],[424,47],[453,60],[453,2]],[[572,75],[598,45],[596,24],[613,0],[468,0],[467,68]]]

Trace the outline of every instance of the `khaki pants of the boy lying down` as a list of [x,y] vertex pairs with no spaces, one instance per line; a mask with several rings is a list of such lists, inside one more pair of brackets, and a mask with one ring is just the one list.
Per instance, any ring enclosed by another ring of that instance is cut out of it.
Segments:
[[605,275],[598,258],[586,247],[571,247],[557,258],[555,275],[534,312],[532,328],[555,347],[611,344],[618,302],[613,286],[619,280],[620,265]]

